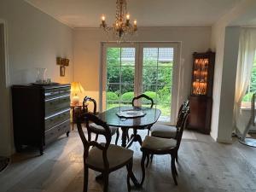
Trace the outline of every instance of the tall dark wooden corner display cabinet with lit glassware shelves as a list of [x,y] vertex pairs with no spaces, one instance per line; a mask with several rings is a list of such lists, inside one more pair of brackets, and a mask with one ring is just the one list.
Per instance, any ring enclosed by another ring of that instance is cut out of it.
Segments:
[[215,53],[212,51],[193,54],[188,127],[205,134],[211,131],[214,62]]

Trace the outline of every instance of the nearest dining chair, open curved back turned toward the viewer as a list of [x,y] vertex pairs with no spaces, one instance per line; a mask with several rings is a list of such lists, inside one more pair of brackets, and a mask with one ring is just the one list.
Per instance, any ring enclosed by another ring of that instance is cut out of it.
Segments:
[[[82,123],[85,121],[85,127],[87,128],[88,138],[84,136]],[[102,127],[102,129],[96,129],[90,126],[89,122],[93,122],[96,125]],[[128,191],[131,191],[130,179],[132,173],[133,163],[133,151],[128,148],[122,148],[118,145],[110,144],[111,142],[111,131],[108,125],[101,119],[98,119],[96,115],[92,113],[83,113],[77,123],[79,136],[84,145],[84,192],[88,189],[88,174],[89,168],[96,171],[102,172],[102,178],[104,181],[104,192],[108,192],[108,175],[123,166],[127,169],[127,187]],[[96,141],[90,141],[90,134],[96,133],[102,135],[106,139],[106,143],[98,143]],[[92,147],[90,149],[90,147]],[[90,150],[89,150],[90,149]]]

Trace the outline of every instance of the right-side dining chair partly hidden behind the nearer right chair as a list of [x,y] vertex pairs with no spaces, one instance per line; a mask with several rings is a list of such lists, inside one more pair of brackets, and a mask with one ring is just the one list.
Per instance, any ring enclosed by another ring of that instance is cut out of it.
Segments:
[[[178,109],[177,113],[177,120],[176,120],[176,125],[157,125],[154,124],[150,131],[151,131],[151,136],[153,137],[160,137],[160,138],[177,138],[177,132],[180,130],[181,124],[183,122],[183,110],[189,107],[189,100],[186,100],[183,102],[183,104],[180,106]],[[152,161],[153,159],[153,154],[151,154],[150,160]],[[175,156],[175,159],[177,161],[177,155]],[[149,160],[149,158],[148,158]],[[147,161],[147,166],[148,166],[149,161]]]

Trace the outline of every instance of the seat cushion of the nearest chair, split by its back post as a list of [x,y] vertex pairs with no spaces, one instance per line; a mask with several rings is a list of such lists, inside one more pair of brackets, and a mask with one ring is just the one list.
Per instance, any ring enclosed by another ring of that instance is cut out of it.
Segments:
[[[108,147],[107,156],[109,169],[111,169],[130,160],[133,156],[133,151],[128,148],[122,148],[118,145],[110,144]],[[91,148],[86,163],[90,166],[104,169],[102,150],[96,147]]]

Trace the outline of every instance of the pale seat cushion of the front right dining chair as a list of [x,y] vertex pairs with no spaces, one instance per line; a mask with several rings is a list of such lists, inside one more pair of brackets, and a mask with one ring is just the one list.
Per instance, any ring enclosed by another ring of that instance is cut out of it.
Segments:
[[142,149],[145,148],[154,151],[165,151],[175,148],[176,144],[177,141],[172,138],[146,136],[143,141]]

